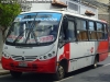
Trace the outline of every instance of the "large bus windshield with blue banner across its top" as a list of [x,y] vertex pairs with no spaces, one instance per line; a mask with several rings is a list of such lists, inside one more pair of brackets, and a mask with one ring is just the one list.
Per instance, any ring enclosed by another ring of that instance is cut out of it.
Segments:
[[15,17],[7,35],[10,45],[44,45],[55,42],[61,13],[24,13]]

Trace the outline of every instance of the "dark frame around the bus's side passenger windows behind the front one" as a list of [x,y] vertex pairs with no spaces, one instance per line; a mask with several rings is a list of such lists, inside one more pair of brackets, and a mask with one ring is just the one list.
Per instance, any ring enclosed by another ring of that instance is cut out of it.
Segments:
[[[76,38],[76,42],[100,42],[100,40],[107,40],[108,38],[102,38],[102,39],[98,39],[98,32],[101,32],[101,31],[97,31],[97,23],[100,23],[100,24],[102,24],[102,28],[103,28],[103,26],[106,25],[106,28],[107,28],[107,26],[108,26],[108,24],[107,23],[103,23],[103,22],[101,22],[101,21],[95,21],[95,20],[89,20],[89,19],[86,19],[86,17],[80,17],[80,16],[76,16],[76,15],[70,15],[70,14],[65,14],[66,16],[67,16],[67,20],[69,20],[69,21],[73,21],[74,23],[75,23],[75,38]],[[81,21],[86,21],[86,30],[77,30],[77,20],[81,20]],[[94,30],[89,30],[89,22],[94,22]],[[79,32],[81,32],[81,31],[87,31],[87,40],[78,40],[78,31]],[[95,32],[96,34],[95,34],[95,39],[91,39],[90,38],[90,32]],[[108,37],[108,28],[107,28],[107,37]],[[102,34],[102,37],[103,37],[103,35],[106,34],[106,32],[103,32],[103,30],[102,30],[102,32],[101,33],[103,33]],[[106,36],[106,35],[105,35]],[[73,43],[73,42],[75,42],[75,40],[69,40],[70,43]]]

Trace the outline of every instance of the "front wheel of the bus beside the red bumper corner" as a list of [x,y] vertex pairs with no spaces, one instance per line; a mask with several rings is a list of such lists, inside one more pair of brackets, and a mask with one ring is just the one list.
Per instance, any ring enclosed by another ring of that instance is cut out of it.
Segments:
[[56,71],[56,73],[54,74],[54,80],[62,80],[63,78],[64,78],[64,75],[65,75],[65,71],[64,71],[64,68],[63,68],[63,66],[58,66],[58,68],[57,68],[57,71]]

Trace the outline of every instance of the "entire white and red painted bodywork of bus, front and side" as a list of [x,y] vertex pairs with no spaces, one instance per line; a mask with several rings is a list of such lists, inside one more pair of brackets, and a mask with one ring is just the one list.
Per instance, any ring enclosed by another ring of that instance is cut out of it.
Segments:
[[[58,13],[61,12],[58,11]],[[98,21],[95,19],[90,19],[87,16],[84,17],[81,15],[73,14],[69,12],[63,12],[63,14],[70,14],[73,16],[78,16],[86,20]],[[59,30],[61,28],[58,28],[58,33],[59,33]],[[73,43],[68,42],[62,48],[59,48],[58,38],[59,38],[59,35],[57,35],[57,39],[52,45],[32,47],[32,48],[25,47],[25,49],[18,48],[15,46],[4,45],[3,51],[8,52],[10,58],[4,58],[2,56],[1,61],[2,61],[3,69],[13,70],[13,71],[22,71],[22,72],[33,71],[33,72],[38,72],[38,73],[55,73],[58,66],[56,62],[61,62],[63,59],[66,59],[68,63],[67,72],[72,72],[74,70],[94,65],[95,57],[97,55],[98,55],[99,61],[102,61],[108,57],[108,51],[109,51],[108,40],[89,40],[88,38],[88,40],[86,42],[85,40],[84,42],[75,40]],[[48,55],[52,52],[55,54],[53,58],[43,59],[43,60],[38,59],[40,56],[42,56],[43,58],[45,55]],[[20,56],[21,61],[12,59],[14,58],[12,57],[13,55],[14,57]],[[28,65],[28,67],[23,68],[23,67],[19,67],[20,62],[22,62],[23,60],[22,57],[29,57],[29,58],[36,57],[36,59],[33,61],[23,61]]]

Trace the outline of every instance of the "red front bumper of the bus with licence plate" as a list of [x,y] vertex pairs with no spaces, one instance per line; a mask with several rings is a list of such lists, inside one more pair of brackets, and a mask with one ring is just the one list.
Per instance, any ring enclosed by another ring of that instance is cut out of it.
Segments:
[[20,72],[37,72],[37,73],[55,73],[56,72],[56,57],[44,61],[13,61],[11,58],[1,59],[2,68],[6,70],[13,70]]

